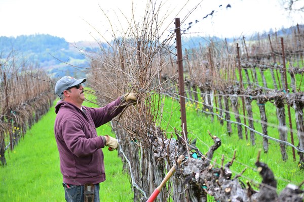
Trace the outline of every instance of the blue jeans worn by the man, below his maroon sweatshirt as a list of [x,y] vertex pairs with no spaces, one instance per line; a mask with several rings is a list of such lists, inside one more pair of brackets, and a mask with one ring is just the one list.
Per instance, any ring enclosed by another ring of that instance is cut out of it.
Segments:
[[[69,185],[67,187],[65,183],[62,184],[65,192],[65,200],[67,202],[84,202],[84,186],[83,185]],[[94,184],[94,202],[100,202],[99,199],[99,183]]]

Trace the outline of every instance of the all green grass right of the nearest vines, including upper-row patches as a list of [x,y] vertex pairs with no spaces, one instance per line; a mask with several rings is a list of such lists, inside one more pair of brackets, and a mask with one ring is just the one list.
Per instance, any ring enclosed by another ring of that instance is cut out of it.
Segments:
[[[288,64],[287,64],[287,68],[288,68]],[[250,81],[252,82],[253,72],[249,70],[248,73],[249,73]],[[256,73],[258,77],[258,85],[263,86],[260,71],[256,71]],[[243,81],[247,81],[247,79],[245,78],[246,75],[244,70],[242,71],[242,75],[243,75]],[[238,72],[236,72],[236,76],[237,79],[239,79]],[[274,89],[271,71],[265,70],[264,76],[266,81],[268,82],[267,83],[268,88]],[[275,77],[277,84],[278,82],[281,83],[281,75],[279,75],[279,79],[278,79],[276,71],[275,71]],[[303,91],[304,81],[300,82],[301,79],[302,79],[301,75],[296,75],[296,89],[300,89],[300,91]],[[290,74],[288,72],[287,72],[287,83],[291,91],[290,88],[291,79],[290,79]],[[248,85],[245,84],[245,88],[247,86]],[[282,87],[282,83],[281,83],[281,87]],[[262,181],[262,178],[260,177],[259,173],[256,171],[256,167],[254,164],[256,162],[258,151],[262,150],[260,161],[267,163],[268,166],[271,168],[271,170],[274,172],[275,178],[278,182],[278,189],[277,189],[278,192],[282,191],[282,189],[286,187],[288,183],[299,185],[304,180],[304,171],[298,168],[299,157],[295,151],[296,161],[293,161],[292,148],[290,146],[287,146],[288,160],[286,162],[283,162],[280,152],[280,146],[278,142],[269,140],[269,151],[267,154],[265,154],[263,153],[262,137],[255,134],[256,145],[252,146],[250,142],[250,132],[248,129],[247,129],[248,140],[246,140],[245,138],[244,127],[243,127],[244,138],[241,140],[239,139],[237,126],[235,124],[232,124],[233,133],[231,136],[229,136],[226,133],[226,122],[224,122],[224,125],[220,125],[219,120],[216,116],[214,116],[214,121],[212,122],[210,118],[211,116],[204,114],[202,112],[201,100],[202,98],[199,97],[200,104],[197,109],[195,105],[189,102],[186,103],[187,131],[189,133],[188,138],[198,138],[197,141],[198,148],[203,153],[206,153],[209,147],[213,144],[213,140],[209,136],[208,131],[210,131],[212,135],[218,136],[221,139],[222,144],[215,151],[215,155],[212,159],[213,161],[216,160],[217,166],[220,165],[222,155],[224,155],[225,158],[224,164],[226,164],[227,162],[231,161],[234,155],[234,150],[236,150],[236,161],[231,167],[233,176],[240,174],[242,170],[247,168],[247,170],[243,174],[243,177],[240,177],[240,179],[243,182],[249,181],[250,184],[252,184],[256,190],[258,190],[258,183]],[[215,103],[213,104],[215,106]],[[230,111],[232,111],[231,108]],[[259,108],[255,100],[253,100],[252,102],[252,111],[253,111],[254,120],[260,120]],[[268,102],[265,104],[265,111],[267,113],[268,123],[272,124],[272,126],[268,127],[268,135],[276,139],[279,139],[276,107],[274,106],[273,103]],[[241,98],[239,98],[239,112],[240,114],[243,114]],[[289,127],[288,125],[289,117],[287,112],[288,112],[287,106],[285,105],[286,125],[287,127]],[[176,100],[173,100],[172,98],[169,97],[165,98],[165,109],[162,120],[163,121],[161,123],[161,126],[163,129],[167,129],[168,133],[171,132],[174,133],[174,127],[176,127],[177,130],[181,130],[181,128],[179,127],[181,125],[179,104]],[[166,121],[170,120],[170,121],[169,123],[167,123],[165,120]],[[236,121],[235,116],[233,114],[231,114],[231,120]],[[298,138],[296,134],[294,110],[292,108],[291,108],[291,120],[292,120],[293,136],[294,136],[294,145],[297,145]],[[241,117],[241,121],[242,123],[244,123],[243,117]],[[248,125],[248,120],[246,121]],[[262,132],[261,124],[259,123],[259,121],[254,122],[254,128],[256,131]],[[291,142],[289,132],[288,132],[288,142]],[[214,199],[208,196],[208,201],[214,201]]]

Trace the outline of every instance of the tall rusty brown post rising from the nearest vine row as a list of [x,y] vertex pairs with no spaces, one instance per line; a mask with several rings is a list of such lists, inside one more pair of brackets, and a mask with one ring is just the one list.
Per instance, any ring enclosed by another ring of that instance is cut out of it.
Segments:
[[186,106],[185,106],[185,90],[183,78],[183,59],[181,51],[181,36],[180,36],[180,21],[175,18],[175,34],[176,34],[176,52],[177,52],[177,65],[178,65],[178,87],[179,87],[179,103],[181,114],[181,128],[184,134],[184,139],[187,141],[187,120],[186,120]]

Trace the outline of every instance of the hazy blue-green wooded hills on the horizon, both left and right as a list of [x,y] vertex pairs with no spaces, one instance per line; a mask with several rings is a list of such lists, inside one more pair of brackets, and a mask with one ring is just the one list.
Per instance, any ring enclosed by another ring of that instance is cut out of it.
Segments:
[[[304,25],[299,25],[303,27]],[[277,35],[284,35],[295,30],[296,26],[288,29],[275,30]],[[273,30],[269,31],[274,33]],[[256,40],[259,36],[269,33],[260,33],[251,36],[249,39]],[[182,39],[183,47],[195,48],[199,45],[208,44],[210,40],[223,41],[217,37],[185,37]],[[226,38],[227,42],[235,39]],[[106,44],[102,44],[106,47]],[[17,37],[0,36],[0,61],[11,61],[20,66],[32,66],[43,68],[54,77],[64,75],[85,76],[81,67],[89,67],[90,59],[83,53],[98,52],[100,45],[95,41],[80,41],[69,43],[64,38],[51,36],[49,34],[20,35]],[[12,60],[14,59],[14,60]]]

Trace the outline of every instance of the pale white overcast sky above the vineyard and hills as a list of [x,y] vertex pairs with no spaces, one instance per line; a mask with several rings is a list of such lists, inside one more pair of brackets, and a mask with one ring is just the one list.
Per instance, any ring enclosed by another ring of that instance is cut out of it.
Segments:
[[[297,23],[304,24],[303,13],[289,14],[283,11],[279,4],[281,1],[153,0],[156,5],[164,5],[160,8],[160,17],[167,19],[164,25],[168,31],[175,27],[174,18],[182,21],[189,11],[199,5],[182,26],[186,28],[187,23],[198,20],[189,32],[219,37],[238,37],[271,28],[275,30]],[[147,2],[133,0],[137,22],[143,20]],[[226,8],[228,4],[231,7]],[[304,0],[300,4],[298,6],[304,6]],[[0,0],[0,36],[51,34],[63,37],[68,42],[92,41],[93,37],[100,35],[108,39],[109,23],[99,6],[114,27],[123,27],[127,24],[125,18],[131,19],[132,0]],[[203,19],[213,10],[212,16]]]

